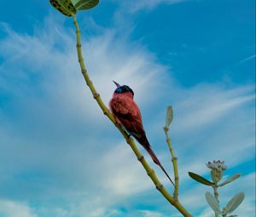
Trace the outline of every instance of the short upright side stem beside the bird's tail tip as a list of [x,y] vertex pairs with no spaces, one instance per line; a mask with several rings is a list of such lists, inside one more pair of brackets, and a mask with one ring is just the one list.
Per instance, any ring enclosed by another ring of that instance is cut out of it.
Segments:
[[175,153],[174,153],[174,149],[172,147],[172,140],[168,134],[169,132],[169,128],[164,128],[165,130],[165,133],[166,133],[166,142],[167,142],[167,145],[169,147],[169,150],[171,152],[171,156],[172,156],[172,167],[173,167],[173,171],[174,171],[174,179],[175,179],[175,188],[174,188],[174,191],[173,191],[173,197],[174,199],[177,200],[177,195],[178,195],[178,170],[177,170],[177,157],[175,157]]

